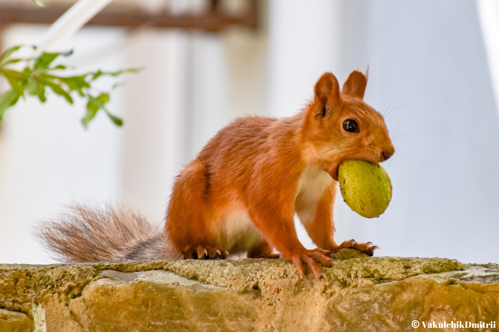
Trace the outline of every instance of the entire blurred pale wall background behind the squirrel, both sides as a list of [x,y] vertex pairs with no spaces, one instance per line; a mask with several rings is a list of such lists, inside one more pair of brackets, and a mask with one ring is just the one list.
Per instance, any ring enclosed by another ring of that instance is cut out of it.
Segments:
[[[203,6],[170,2],[177,10]],[[499,11],[477,8],[473,0],[268,0],[256,31],[83,28],[60,45],[74,49],[66,63],[81,71],[145,69],[111,95],[123,128],[100,114],[84,130],[84,105],[54,95],[6,111],[0,262],[53,262],[30,227],[73,201],[128,203],[160,223],[174,177],[231,119],[292,115],[325,71],[342,82],[368,66],[364,100],[385,115],[397,147],[383,165],[393,199],[368,220],[340,196],[336,241],[371,241],[376,256],[499,262],[499,89],[492,84],[499,82]],[[7,26],[2,46],[36,44],[46,28]],[[313,247],[299,224],[297,231]]]

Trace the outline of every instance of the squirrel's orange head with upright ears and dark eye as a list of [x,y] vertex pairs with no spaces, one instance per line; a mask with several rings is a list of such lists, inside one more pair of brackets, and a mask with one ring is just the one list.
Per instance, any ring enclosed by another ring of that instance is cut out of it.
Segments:
[[345,159],[379,163],[395,152],[383,116],[362,100],[367,77],[353,71],[339,89],[331,73],[320,77],[305,109],[302,137],[307,156],[321,162],[333,179]]

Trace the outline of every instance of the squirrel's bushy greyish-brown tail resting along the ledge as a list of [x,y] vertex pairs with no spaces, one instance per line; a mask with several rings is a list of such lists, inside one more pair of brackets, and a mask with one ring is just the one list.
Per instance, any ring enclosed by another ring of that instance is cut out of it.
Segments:
[[34,234],[65,263],[176,258],[164,231],[130,208],[72,205]]

